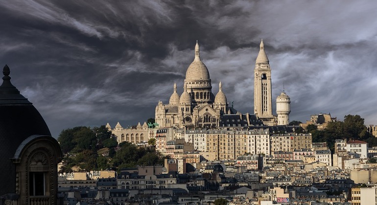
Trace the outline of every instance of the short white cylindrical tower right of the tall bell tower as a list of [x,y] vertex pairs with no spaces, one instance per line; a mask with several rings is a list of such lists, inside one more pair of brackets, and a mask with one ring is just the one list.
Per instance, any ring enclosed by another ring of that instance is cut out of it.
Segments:
[[276,114],[278,114],[278,125],[289,124],[289,113],[291,112],[291,99],[282,92],[276,98]]

